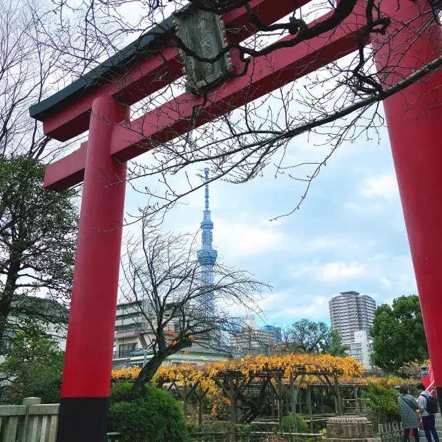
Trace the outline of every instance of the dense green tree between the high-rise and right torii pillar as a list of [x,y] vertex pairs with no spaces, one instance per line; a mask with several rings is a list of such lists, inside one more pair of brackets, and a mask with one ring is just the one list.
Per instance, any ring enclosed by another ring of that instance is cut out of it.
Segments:
[[382,369],[392,372],[410,361],[428,358],[421,305],[416,295],[401,296],[392,306],[379,306],[370,334],[372,362]]

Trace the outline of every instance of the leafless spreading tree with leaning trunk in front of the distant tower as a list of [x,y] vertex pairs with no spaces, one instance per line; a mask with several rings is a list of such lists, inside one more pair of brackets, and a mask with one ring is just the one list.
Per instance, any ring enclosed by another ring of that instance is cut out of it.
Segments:
[[246,271],[220,263],[214,266],[213,284],[206,285],[195,246],[194,236],[164,234],[148,224],[143,224],[139,240],[128,241],[120,289],[124,298],[136,302],[140,329],[152,354],[131,398],[144,392],[167,357],[193,343],[227,349],[229,334],[241,327],[229,314],[231,307],[260,311],[258,300],[267,286]]

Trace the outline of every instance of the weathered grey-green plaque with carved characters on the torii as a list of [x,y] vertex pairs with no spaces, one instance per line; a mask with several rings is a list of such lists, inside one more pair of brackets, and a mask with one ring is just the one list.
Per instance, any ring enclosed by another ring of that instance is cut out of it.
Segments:
[[[204,59],[214,59],[227,47],[226,30],[220,15],[186,6],[173,15],[175,33],[185,48]],[[190,51],[178,48],[184,65],[186,92],[201,95],[232,72],[229,52],[213,62],[201,61]]]

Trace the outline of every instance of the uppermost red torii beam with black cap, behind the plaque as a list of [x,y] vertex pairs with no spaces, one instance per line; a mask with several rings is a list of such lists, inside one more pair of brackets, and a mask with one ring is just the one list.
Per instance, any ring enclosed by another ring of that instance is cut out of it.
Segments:
[[[311,0],[297,0],[300,8]],[[294,10],[293,0],[252,0],[249,6],[265,25],[270,25]],[[222,16],[229,43],[240,43],[256,33],[245,8]],[[43,122],[44,133],[67,141],[88,130],[92,102],[102,95],[115,95],[127,105],[139,102],[182,77],[177,48],[158,34],[173,30],[169,17],[140,41],[134,41],[73,84],[30,107],[30,116]],[[154,35],[155,34],[155,35]],[[163,41],[162,41],[163,40]],[[160,52],[162,55],[160,56]]]

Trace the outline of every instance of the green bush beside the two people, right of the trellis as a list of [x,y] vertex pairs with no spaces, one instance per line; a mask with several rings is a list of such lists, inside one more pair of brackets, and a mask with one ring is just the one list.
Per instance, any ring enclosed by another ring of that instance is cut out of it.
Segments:
[[368,417],[373,424],[401,421],[398,396],[390,385],[369,384],[363,392],[363,402],[369,407]]

